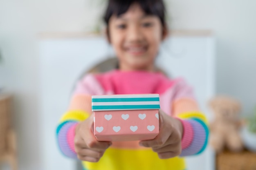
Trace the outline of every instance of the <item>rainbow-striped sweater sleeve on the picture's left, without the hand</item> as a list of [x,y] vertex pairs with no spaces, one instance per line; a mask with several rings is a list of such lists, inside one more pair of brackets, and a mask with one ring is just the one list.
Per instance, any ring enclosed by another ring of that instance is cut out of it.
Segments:
[[74,137],[76,126],[87,119],[92,113],[91,95],[103,93],[101,86],[92,75],[87,75],[80,81],[70,101],[67,112],[61,117],[56,130],[57,142],[61,152],[71,158],[76,158]]

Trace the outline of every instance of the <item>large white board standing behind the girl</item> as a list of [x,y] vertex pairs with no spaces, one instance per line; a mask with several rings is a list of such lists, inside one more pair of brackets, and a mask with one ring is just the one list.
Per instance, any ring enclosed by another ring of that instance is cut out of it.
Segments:
[[[162,46],[157,64],[172,77],[184,77],[194,87],[204,113],[215,94],[214,38],[172,37]],[[74,82],[87,68],[112,54],[102,37],[40,40],[40,124],[43,170],[74,170],[76,163],[61,155],[56,143],[58,119],[67,109]],[[188,170],[213,170],[207,148],[187,159]]]

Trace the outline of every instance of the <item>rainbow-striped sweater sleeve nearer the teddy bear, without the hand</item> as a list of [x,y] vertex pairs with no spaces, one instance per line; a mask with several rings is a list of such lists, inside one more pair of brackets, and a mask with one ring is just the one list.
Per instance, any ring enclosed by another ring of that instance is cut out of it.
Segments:
[[177,86],[172,115],[179,118],[183,125],[180,156],[197,155],[203,152],[207,146],[209,136],[207,119],[200,112],[192,89],[184,81],[180,81]]

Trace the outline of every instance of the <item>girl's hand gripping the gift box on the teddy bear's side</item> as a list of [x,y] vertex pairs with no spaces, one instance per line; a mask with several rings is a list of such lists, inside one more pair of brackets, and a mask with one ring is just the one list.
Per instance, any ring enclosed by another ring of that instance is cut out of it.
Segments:
[[151,147],[160,159],[180,155],[183,126],[180,120],[166,115],[159,110],[159,134],[155,139],[140,141],[140,145]]

